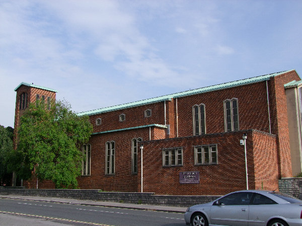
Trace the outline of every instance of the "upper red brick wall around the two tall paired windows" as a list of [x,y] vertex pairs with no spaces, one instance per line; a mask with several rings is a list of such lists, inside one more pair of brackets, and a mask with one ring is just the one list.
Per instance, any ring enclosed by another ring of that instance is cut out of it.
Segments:
[[[178,98],[179,137],[193,135],[192,107],[205,104],[206,133],[224,132],[223,101],[238,98],[240,130],[269,132],[266,83],[258,82]],[[175,101],[176,102],[176,101]]]

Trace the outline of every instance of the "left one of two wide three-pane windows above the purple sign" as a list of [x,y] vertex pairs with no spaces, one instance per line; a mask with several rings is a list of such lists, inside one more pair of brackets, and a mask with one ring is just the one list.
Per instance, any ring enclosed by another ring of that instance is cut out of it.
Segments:
[[163,150],[163,166],[182,166],[182,148]]

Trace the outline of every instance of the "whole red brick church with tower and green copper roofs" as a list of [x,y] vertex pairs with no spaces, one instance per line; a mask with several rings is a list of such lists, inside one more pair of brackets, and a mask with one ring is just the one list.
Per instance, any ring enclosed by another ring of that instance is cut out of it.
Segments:
[[[301,87],[289,70],[81,112],[94,130],[79,186],[221,195],[246,189],[248,174],[249,189],[278,189],[278,179],[302,171]],[[28,83],[15,91],[15,128],[28,102],[56,94]],[[24,185],[36,188],[35,181]]]

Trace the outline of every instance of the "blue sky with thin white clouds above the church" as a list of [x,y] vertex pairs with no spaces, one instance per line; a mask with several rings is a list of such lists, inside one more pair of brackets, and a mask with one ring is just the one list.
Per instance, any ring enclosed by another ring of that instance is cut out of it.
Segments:
[[21,83],[81,112],[295,69],[302,1],[0,0],[0,125]]

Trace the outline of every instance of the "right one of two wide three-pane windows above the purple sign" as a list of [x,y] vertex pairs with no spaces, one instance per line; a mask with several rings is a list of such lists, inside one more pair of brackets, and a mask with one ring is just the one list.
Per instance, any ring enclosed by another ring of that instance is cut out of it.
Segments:
[[203,145],[194,148],[195,165],[217,164],[217,146]]

